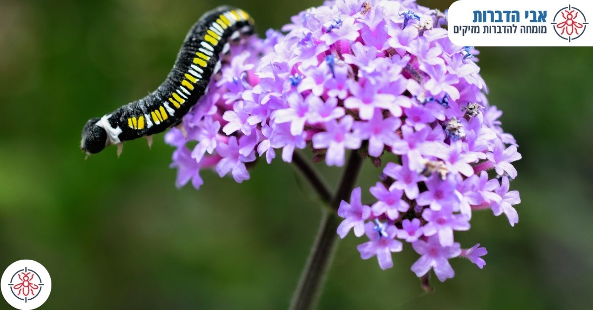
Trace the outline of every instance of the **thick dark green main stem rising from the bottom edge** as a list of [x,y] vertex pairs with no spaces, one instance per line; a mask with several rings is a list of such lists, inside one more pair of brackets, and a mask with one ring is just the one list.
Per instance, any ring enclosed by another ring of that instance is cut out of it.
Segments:
[[[356,178],[358,178],[361,166],[361,156],[358,155],[358,152],[352,151],[336,195],[331,199],[331,210],[337,210],[339,203],[343,199],[347,199],[354,187]],[[297,290],[292,297],[291,310],[309,310],[314,309],[317,305],[331,258],[336,250],[336,229],[339,224],[340,220],[337,213],[324,209],[315,244],[311,249],[311,254],[309,254],[307,265],[302,271]]]

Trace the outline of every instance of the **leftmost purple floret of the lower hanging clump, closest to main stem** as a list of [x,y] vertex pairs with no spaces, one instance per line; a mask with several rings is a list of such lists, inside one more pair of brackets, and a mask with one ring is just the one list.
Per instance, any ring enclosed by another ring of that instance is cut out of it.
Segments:
[[344,218],[337,227],[340,238],[346,237],[350,229],[354,228],[354,235],[361,237],[365,233],[365,221],[371,216],[371,207],[361,202],[361,188],[356,187],[350,194],[350,203],[342,200],[337,215]]

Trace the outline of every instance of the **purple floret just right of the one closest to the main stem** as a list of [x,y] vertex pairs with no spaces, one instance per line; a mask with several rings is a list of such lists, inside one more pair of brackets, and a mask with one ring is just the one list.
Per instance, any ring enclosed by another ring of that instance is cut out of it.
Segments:
[[381,182],[377,182],[375,186],[371,187],[371,194],[378,199],[378,202],[371,206],[374,216],[385,213],[389,219],[395,220],[399,218],[400,212],[410,209],[409,204],[401,200],[401,194],[403,194],[401,190],[396,188],[388,190]]

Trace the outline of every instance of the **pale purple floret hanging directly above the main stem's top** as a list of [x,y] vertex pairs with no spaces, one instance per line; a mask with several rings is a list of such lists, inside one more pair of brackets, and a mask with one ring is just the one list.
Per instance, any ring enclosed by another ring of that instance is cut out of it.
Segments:
[[342,167],[344,165],[345,149],[358,149],[361,147],[361,139],[350,132],[354,119],[352,116],[345,116],[336,122],[331,120],[326,123],[326,132],[315,133],[313,136],[313,147],[316,149],[327,148],[327,165]]

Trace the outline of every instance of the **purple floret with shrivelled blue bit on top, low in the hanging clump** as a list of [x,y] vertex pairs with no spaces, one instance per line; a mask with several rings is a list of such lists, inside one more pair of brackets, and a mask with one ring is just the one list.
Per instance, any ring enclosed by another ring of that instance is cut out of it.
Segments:
[[369,241],[356,247],[361,253],[361,258],[368,260],[377,255],[379,267],[382,270],[393,267],[391,253],[400,252],[403,248],[401,242],[394,239],[397,234],[396,226],[378,221],[377,223],[368,222],[365,225],[365,234]]

